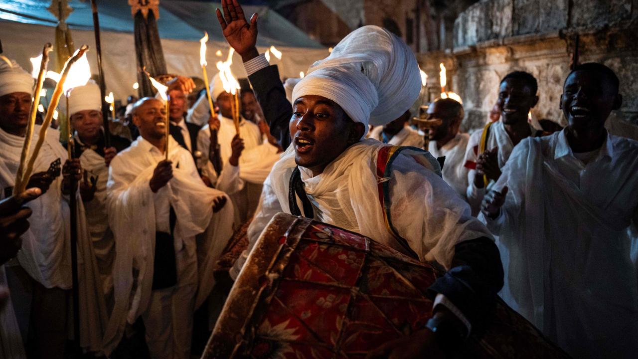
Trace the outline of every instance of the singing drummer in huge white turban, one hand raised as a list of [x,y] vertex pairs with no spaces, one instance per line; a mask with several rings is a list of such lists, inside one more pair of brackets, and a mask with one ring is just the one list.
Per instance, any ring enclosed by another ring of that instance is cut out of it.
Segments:
[[[248,24],[236,0],[222,1],[222,6],[224,17],[219,10],[217,15],[228,43],[244,61],[257,57],[256,15]],[[412,51],[376,26],[353,31],[329,57],[311,66],[293,90],[292,146],[264,183],[248,237],[251,248],[269,220],[283,211],[445,266],[449,271],[429,288],[434,299],[429,330],[404,339],[422,344],[423,354],[443,344],[438,340],[453,343],[446,351],[454,349],[482,324],[486,306],[503,284],[503,269],[491,234],[441,179],[429,153],[362,140],[368,123],[383,125],[405,112],[420,86]],[[383,195],[390,199],[383,203],[371,195],[378,188],[380,167],[385,167]],[[245,259],[240,257],[233,275]],[[433,332],[444,327],[435,339]],[[387,344],[378,355],[405,357],[404,340]]]

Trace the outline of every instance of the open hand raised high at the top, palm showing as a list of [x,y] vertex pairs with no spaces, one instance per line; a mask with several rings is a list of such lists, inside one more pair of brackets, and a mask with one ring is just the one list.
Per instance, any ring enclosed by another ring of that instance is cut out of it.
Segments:
[[228,44],[235,49],[237,54],[246,62],[259,55],[257,43],[257,17],[256,13],[246,21],[244,10],[237,0],[221,0],[221,8],[224,15],[217,9],[217,19]]

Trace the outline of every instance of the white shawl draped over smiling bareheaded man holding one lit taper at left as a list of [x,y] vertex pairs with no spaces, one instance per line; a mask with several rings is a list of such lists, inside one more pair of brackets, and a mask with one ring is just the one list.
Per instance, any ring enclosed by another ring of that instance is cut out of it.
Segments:
[[[151,297],[156,194],[151,191],[149,181],[158,160],[152,156],[149,146],[152,144],[138,137],[112,160],[109,169],[107,206],[110,227],[115,235],[116,256],[113,268],[115,307],[105,334],[107,353],[119,344],[126,322],[134,323],[146,310]],[[175,251],[197,245],[199,286],[195,305],[198,307],[214,285],[212,271],[232,236],[234,209],[227,200],[224,208],[213,214],[212,202],[225,194],[204,185],[193,157],[172,137],[169,148],[173,178],[160,191],[170,198],[170,205],[177,215]]]

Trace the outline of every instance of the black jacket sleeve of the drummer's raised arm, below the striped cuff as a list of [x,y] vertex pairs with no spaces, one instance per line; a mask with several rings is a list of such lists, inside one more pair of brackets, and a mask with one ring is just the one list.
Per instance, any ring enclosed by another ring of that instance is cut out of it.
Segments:
[[288,123],[292,117],[292,105],[286,99],[286,91],[279,79],[276,65],[262,68],[248,77],[255,91],[257,102],[262,107],[263,116],[271,126],[271,134],[279,141],[281,148],[290,145],[290,128]]

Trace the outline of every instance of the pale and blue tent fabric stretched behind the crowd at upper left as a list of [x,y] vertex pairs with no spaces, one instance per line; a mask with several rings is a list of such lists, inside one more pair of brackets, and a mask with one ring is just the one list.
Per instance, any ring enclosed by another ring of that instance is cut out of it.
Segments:
[[[88,1],[81,3],[78,0],[71,0],[69,3],[74,8],[74,11],[68,17],[67,22],[72,28],[71,34],[73,35],[75,46],[89,45],[90,49],[87,57],[91,65],[91,72],[97,74],[91,5]],[[211,40],[207,43],[206,60],[208,63],[207,73],[212,79],[218,72],[215,64],[218,61],[225,61],[229,50],[228,43],[221,35],[216,15],[212,12],[215,4],[198,3],[197,1],[165,1],[163,3],[165,4],[161,4],[159,9],[158,28],[168,73],[202,77],[202,67],[199,63],[200,43],[198,40],[204,36],[204,30],[200,31],[181,20],[181,17],[186,16],[186,13],[190,13],[195,16],[201,26],[205,27],[206,31],[210,30],[209,36]],[[15,59],[20,66],[29,72],[31,71],[29,57],[38,56],[46,42],[54,43],[55,40],[57,22],[55,17],[46,10],[48,4],[49,1],[41,0],[0,0],[0,40],[3,43],[3,54]],[[216,4],[218,5],[218,3]],[[188,6],[193,6],[193,8],[191,8],[192,10],[183,11],[183,13],[175,10],[178,15],[174,15],[170,10],[167,10],[167,7],[172,8],[172,6],[179,8],[178,5],[183,5],[182,10],[187,9]],[[196,5],[199,5],[200,8],[195,8]],[[133,40],[133,17],[131,17],[130,6],[128,6],[126,0],[113,0],[108,2],[100,1],[98,7],[100,10],[102,64],[107,93],[112,91],[115,99],[124,101],[128,95],[137,96],[137,90],[133,89],[133,83],[137,82],[137,65]],[[208,15],[207,11],[211,11],[210,15]],[[270,45],[276,46],[282,52],[281,60],[271,56],[271,63],[279,66],[279,73],[282,78],[299,77],[299,72],[306,72],[308,67],[316,60],[328,56],[328,50],[322,47],[313,47],[312,40],[309,41],[308,47],[298,47],[297,45],[300,45],[302,40],[293,40],[295,38],[294,34],[288,36],[287,33],[282,31],[287,31],[288,26],[292,26],[298,32],[300,30],[267,7],[248,5],[244,8],[244,11],[248,16],[252,12],[260,14],[260,38],[271,38],[267,35],[269,31],[272,31],[272,33],[278,34],[279,39],[290,39],[290,42],[285,42],[285,40],[277,40],[275,42],[273,40],[272,43],[268,43],[267,40],[263,40],[262,43],[258,43],[260,52],[264,52]],[[274,21],[279,24],[276,24],[271,29],[268,27],[267,19],[279,19]],[[269,30],[262,31],[265,27],[269,28]],[[304,36],[306,35],[304,34]],[[292,45],[278,45],[279,43],[291,43]],[[217,50],[221,50],[223,53],[221,57],[216,56]],[[241,57],[235,54],[233,61],[231,68],[235,77],[246,77]],[[55,60],[52,58],[48,68],[54,69],[54,66]],[[47,102],[45,101],[46,104]]]

